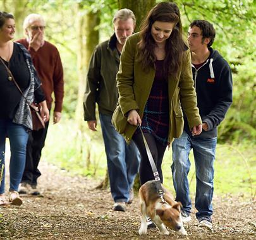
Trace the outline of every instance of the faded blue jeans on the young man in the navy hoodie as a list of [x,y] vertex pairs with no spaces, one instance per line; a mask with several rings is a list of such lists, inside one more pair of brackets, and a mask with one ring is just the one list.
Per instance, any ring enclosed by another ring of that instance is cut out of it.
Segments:
[[173,141],[173,184],[176,191],[176,201],[181,201],[183,210],[190,213],[192,203],[188,184],[190,160],[188,155],[193,148],[195,159],[195,174],[197,189],[195,194],[195,208],[197,219],[211,217],[212,195],[214,191],[214,159],[217,138],[198,138],[183,131],[180,138]]

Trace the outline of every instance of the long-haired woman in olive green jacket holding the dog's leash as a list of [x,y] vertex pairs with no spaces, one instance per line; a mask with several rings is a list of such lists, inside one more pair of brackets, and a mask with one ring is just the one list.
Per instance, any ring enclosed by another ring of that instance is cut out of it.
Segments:
[[183,131],[181,105],[193,134],[202,131],[190,51],[181,31],[176,4],[159,3],[150,11],[141,32],[126,40],[121,54],[117,75],[119,99],[112,120],[125,140],[133,139],[140,150],[141,184],[154,176],[138,124],[148,141],[161,182],[166,146]]

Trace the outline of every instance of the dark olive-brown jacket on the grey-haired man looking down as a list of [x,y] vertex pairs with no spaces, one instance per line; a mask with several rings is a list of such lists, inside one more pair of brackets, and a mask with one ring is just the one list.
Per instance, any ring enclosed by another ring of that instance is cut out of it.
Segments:
[[116,35],[95,47],[90,59],[83,100],[84,120],[96,120],[95,104],[99,112],[112,116],[118,102],[116,73],[119,68],[119,52]]

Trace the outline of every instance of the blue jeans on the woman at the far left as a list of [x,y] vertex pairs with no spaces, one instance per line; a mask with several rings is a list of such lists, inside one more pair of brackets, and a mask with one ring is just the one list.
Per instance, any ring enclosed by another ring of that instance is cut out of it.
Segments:
[[9,191],[18,191],[18,186],[20,184],[26,162],[26,147],[28,140],[27,129],[21,125],[13,123],[9,119],[0,119],[0,168],[2,169],[4,165],[3,180],[1,181],[0,185],[0,194],[4,193],[6,168],[4,162],[4,155],[6,135],[9,138],[9,143],[11,147],[11,159],[9,162]]

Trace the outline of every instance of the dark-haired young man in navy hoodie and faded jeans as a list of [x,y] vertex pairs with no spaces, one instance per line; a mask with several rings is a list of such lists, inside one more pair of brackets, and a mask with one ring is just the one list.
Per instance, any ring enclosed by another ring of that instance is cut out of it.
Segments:
[[180,138],[173,142],[173,183],[176,201],[181,201],[183,222],[191,220],[192,202],[188,184],[190,160],[188,155],[193,148],[197,177],[195,208],[198,227],[212,229],[212,194],[214,190],[214,159],[217,143],[217,126],[224,119],[232,103],[232,76],[228,63],[219,52],[210,46],[215,38],[212,24],[195,20],[188,30],[188,44],[192,52],[192,71],[197,92],[197,106],[203,122],[203,131],[193,136],[185,126]]

